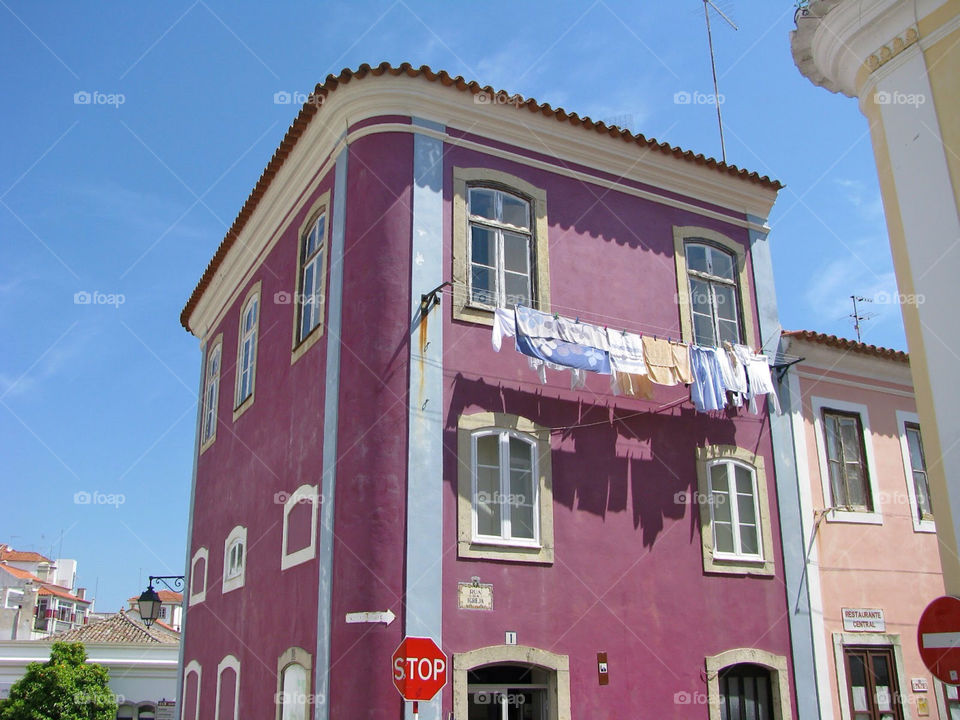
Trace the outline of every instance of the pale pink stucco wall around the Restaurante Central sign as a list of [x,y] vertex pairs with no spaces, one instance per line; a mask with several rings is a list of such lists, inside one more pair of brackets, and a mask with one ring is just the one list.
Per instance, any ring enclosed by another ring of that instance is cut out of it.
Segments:
[[[798,347],[795,352],[808,354],[803,350],[807,346]],[[830,400],[840,400],[867,408],[870,427],[869,432],[865,428],[864,441],[873,451],[870,479],[876,485],[882,515],[882,525],[825,520],[817,533],[818,566],[811,566],[810,570],[819,574],[826,670],[835,717],[840,717],[840,693],[847,692],[842,664],[843,679],[838,683],[834,655],[834,635],[844,632],[842,608],[884,611],[886,634],[898,638],[902,650],[903,665],[897,672],[907,686],[904,705],[909,704],[911,715],[916,717],[916,699],[926,697],[931,717],[937,717],[935,694],[939,688],[934,687],[932,676],[920,660],[916,630],[924,607],[943,594],[943,579],[936,535],[914,529],[908,493],[908,482],[912,479],[906,475],[901,452],[897,411],[916,412],[909,367],[898,361],[874,359],[869,361],[869,367],[861,364],[851,368],[854,353],[847,357],[842,351],[825,348],[813,348],[810,352],[828,360],[826,364],[822,360],[818,362],[819,367],[800,365],[808,375],[801,376],[800,390],[812,507],[822,510],[829,505],[821,474],[823,438],[814,426],[813,410],[814,398],[823,398],[827,407]],[[853,635],[851,644],[863,637]],[[930,691],[910,692],[911,678],[926,678]]]

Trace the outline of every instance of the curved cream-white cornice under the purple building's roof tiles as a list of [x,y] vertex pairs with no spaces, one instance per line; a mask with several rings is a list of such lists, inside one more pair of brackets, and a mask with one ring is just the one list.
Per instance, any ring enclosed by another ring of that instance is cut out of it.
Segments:
[[[298,196],[304,190],[312,192],[315,189],[317,182],[332,169],[334,159],[345,144],[377,132],[373,128],[361,128],[349,137],[346,135],[349,127],[369,118],[400,115],[432,120],[454,133],[453,136],[441,134],[445,141],[453,144],[469,146],[472,150],[487,154],[509,154],[511,159],[528,165],[544,165],[542,159],[526,158],[517,152],[491,148],[455,136],[457,132],[467,132],[487,141],[515,146],[514,150],[528,150],[554,158],[556,165],[546,165],[553,172],[579,177],[598,185],[614,186],[630,194],[683,207],[743,227],[756,225],[746,219],[747,215],[766,218],[776,199],[777,192],[773,188],[660,150],[588,132],[565,120],[535,114],[525,108],[478,103],[474,99],[472,93],[422,77],[407,76],[368,76],[341,84],[331,92],[211,278],[188,318],[191,331],[197,337],[204,338],[219,323],[233,297],[250,280],[251,270],[263,261],[292,215],[305,201],[302,198],[298,203]],[[391,124],[389,128],[379,131],[413,132],[414,128]],[[416,132],[429,134],[433,131],[417,127]],[[581,165],[587,170],[568,169],[571,164]],[[591,171],[644,183],[652,186],[652,189],[624,187],[611,180],[591,176]],[[719,206],[730,215],[668,197],[658,190]]]

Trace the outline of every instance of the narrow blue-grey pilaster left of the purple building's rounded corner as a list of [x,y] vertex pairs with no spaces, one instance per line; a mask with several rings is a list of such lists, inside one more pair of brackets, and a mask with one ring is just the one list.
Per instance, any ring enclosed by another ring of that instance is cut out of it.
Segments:
[[337,156],[330,229],[330,279],[327,286],[327,372],[323,399],[323,480],[320,488],[320,537],[317,551],[317,657],[314,671],[315,720],[330,716],[330,634],[333,600],[333,510],[337,485],[337,427],[340,421],[340,332],[343,326],[343,247],[347,210],[347,156]]

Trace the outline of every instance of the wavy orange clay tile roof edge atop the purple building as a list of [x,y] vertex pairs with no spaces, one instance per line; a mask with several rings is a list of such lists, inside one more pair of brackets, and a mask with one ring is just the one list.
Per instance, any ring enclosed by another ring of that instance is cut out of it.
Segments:
[[[507,96],[511,99],[511,104],[514,105],[518,110],[526,108],[526,110],[531,113],[544,115],[548,118],[553,118],[558,122],[567,122],[575,127],[583,128],[583,130],[588,132],[592,131],[600,135],[608,135],[614,140],[619,139],[624,142],[633,143],[641,148],[648,148],[664,153],[665,155],[672,155],[673,157],[686,162],[691,162],[696,165],[704,165],[708,168],[716,170],[717,172],[746,180],[748,182],[757,183],[766,188],[779,190],[783,187],[783,183],[779,182],[778,180],[771,180],[766,175],[761,176],[756,172],[739,168],[736,165],[731,165],[715,158],[707,157],[703,154],[693,153],[690,150],[684,150],[680,147],[670,145],[669,143],[659,142],[654,138],[648,138],[640,133],[632,133],[629,130],[624,130],[621,127],[617,127],[616,125],[607,125],[602,121],[592,120],[587,116],[581,117],[577,113],[567,112],[561,107],[551,107],[549,103],[541,103],[533,98],[522,98],[520,95],[511,95],[503,90],[497,91],[489,85],[483,86],[476,81],[465,80],[461,75],[453,77],[446,70],[440,70],[439,72],[436,72],[427,65],[421,65],[417,68],[410,63],[402,63],[397,67],[394,67],[388,62],[382,62],[376,67],[371,67],[370,65],[364,63],[356,70],[344,68],[340,71],[339,75],[328,75],[326,80],[317,84],[313,93],[307,98],[307,101],[303,104],[300,113],[287,129],[287,132],[283,136],[283,140],[280,142],[279,147],[277,147],[277,149],[274,151],[273,157],[270,158],[270,162],[267,163],[267,167],[260,174],[257,184],[254,185],[253,190],[250,192],[250,195],[247,197],[246,202],[244,202],[239,214],[233,221],[233,225],[230,226],[226,236],[224,236],[220,246],[217,248],[217,252],[214,254],[213,259],[207,265],[206,270],[204,270],[204,273],[200,278],[200,282],[197,283],[197,286],[190,295],[190,299],[187,301],[186,306],[184,306],[183,311],[180,313],[180,323],[184,328],[187,330],[190,329],[190,314],[200,301],[200,296],[207,289],[207,286],[213,279],[217,269],[220,267],[224,258],[226,258],[227,253],[230,251],[230,248],[233,247],[237,237],[240,235],[240,231],[250,220],[254,209],[267,192],[267,188],[270,187],[273,179],[277,176],[277,173],[280,171],[284,161],[293,151],[294,146],[303,135],[307,125],[313,119],[313,116],[316,115],[320,110],[330,93],[334,92],[340,85],[346,85],[351,80],[362,80],[367,76],[380,77],[383,75],[392,75],[394,77],[406,75],[407,77],[412,78],[422,77],[430,82],[438,82],[445,87],[453,88],[461,92],[469,92],[472,95],[479,95],[483,93],[492,97]],[[513,102],[514,99],[516,99],[516,102]]]

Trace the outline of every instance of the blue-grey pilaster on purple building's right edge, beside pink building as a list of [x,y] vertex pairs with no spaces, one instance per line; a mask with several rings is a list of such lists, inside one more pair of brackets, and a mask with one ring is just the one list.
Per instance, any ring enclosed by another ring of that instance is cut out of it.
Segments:
[[[748,215],[758,225],[765,218]],[[781,345],[780,316],[773,284],[773,260],[767,234],[750,231],[750,255],[753,262],[753,284],[757,295],[760,338],[763,351],[775,354]],[[792,398],[787,383],[778,392],[782,415],[771,413],[770,435],[773,442],[773,463],[777,476],[777,499],[783,545],[783,573],[790,617],[790,642],[793,651],[793,680],[797,695],[799,720],[820,717],[816,661],[813,652],[813,626],[810,621],[809,591],[804,580],[805,543],[800,517],[800,485],[794,454],[791,408],[799,398]]]

